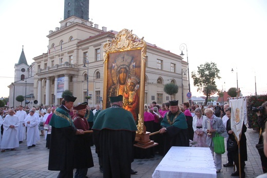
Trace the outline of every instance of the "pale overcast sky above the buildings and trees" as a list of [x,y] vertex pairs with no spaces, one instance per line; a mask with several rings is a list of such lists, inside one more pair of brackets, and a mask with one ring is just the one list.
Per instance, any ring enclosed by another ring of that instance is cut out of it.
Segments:
[[[214,62],[220,70],[219,90],[227,92],[238,81],[241,94],[249,96],[267,93],[266,9],[265,0],[90,0],[89,21],[100,29],[132,30],[146,42],[177,55],[185,43],[189,73]],[[14,65],[22,46],[28,64],[47,52],[46,36],[60,27],[64,0],[1,0],[0,19],[0,97],[8,97],[7,86],[14,82]],[[193,96],[203,96],[191,77],[190,87]]]

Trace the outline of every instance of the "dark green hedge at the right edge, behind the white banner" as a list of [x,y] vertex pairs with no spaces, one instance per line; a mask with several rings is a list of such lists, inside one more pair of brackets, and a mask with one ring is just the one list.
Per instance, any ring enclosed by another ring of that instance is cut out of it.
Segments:
[[[249,123],[249,128],[256,128],[257,130],[259,130],[259,125],[257,122],[258,116],[255,112],[252,111],[252,107],[258,108],[258,106],[261,106],[261,104],[265,101],[267,101],[266,94],[250,96],[249,99],[247,99],[247,121]],[[266,114],[263,117],[266,118]]]

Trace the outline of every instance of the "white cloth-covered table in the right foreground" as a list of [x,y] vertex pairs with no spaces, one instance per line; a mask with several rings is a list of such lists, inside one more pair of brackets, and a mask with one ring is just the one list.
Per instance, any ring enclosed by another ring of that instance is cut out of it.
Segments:
[[152,177],[217,177],[212,152],[201,147],[171,147]]

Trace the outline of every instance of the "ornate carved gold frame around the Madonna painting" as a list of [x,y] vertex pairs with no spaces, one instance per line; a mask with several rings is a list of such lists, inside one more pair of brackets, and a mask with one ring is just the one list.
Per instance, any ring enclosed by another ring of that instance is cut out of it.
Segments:
[[123,29],[112,41],[108,41],[104,44],[104,85],[103,85],[103,109],[106,109],[107,105],[107,93],[108,93],[108,81],[110,81],[110,77],[108,76],[108,64],[109,64],[109,55],[115,52],[124,52],[124,51],[133,51],[140,50],[141,58],[140,58],[140,95],[139,95],[139,114],[138,114],[138,134],[146,133],[144,127],[144,91],[145,91],[145,63],[146,63],[146,42],[142,39],[139,39],[137,35],[132,34],[132,30]]

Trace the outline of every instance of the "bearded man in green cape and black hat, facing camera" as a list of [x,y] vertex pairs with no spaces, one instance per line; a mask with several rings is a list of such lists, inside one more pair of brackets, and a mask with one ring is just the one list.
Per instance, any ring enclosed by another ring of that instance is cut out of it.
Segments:
[[160,133],[165,138],[164,155],[172,146],[189,147],[186,118],[179,109],[178,100],[169,101],[169,111],[161,121],[161,126]]

